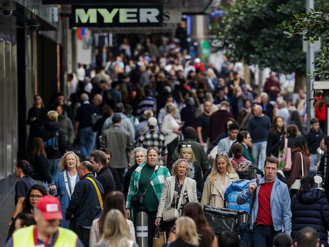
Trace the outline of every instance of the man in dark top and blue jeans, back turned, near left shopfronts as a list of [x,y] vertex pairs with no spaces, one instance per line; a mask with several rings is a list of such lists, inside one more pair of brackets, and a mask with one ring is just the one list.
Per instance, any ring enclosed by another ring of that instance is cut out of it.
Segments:
[[82,105],[77,108],[75,117],[75,137],[79,134],[79,146],[84,159],[89,159],[89,154],[93,151],[96,132],[93,131],[92,116],[99,115],[95,105],[89,103],[88,94],[81,94]]

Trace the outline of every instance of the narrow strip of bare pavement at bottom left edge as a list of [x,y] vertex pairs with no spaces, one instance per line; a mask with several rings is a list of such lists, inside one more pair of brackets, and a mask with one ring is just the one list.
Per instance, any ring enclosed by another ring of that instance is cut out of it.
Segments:
[[0,205],[0,246],[4,246],[8,234],[8,222],[14,212],[15,204],[14,188],[6,200]]

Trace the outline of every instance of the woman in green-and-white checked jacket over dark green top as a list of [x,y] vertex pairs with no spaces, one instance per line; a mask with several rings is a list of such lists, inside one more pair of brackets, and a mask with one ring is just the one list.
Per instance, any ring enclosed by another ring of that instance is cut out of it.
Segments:
[[[147,214],[147,222],[154,222],[158,209],[161,191],[165,180],[170,177],[166,167],[159,166],[157,149],[147,150],[147,162],[140,164],[130,180],[126,203],[127,218],[131,216],[136,226],[136,215],[139,212]],[[148,246],[152,246],[155,226],[148,224]]]

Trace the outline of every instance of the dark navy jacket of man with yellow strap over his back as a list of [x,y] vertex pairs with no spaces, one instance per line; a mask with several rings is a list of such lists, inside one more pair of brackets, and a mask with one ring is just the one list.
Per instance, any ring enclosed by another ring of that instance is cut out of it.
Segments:
[[75,226],[91,226],[93,220],[98,218],[102,213],[97,192],[94,184],[86,179],[92,178],[98,186],[104,202],[104,189],[92,173],[86,174],[75,185],[70,203],[66,209],[65,219],[72,220],[74,218]]

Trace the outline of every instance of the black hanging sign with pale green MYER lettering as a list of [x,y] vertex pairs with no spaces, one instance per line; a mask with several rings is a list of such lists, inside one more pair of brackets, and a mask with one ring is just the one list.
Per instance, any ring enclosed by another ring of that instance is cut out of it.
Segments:
[[161,26],[162,5],[72,6],[73,27],[146,27]]

